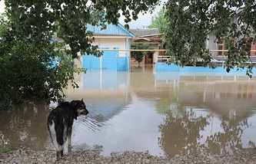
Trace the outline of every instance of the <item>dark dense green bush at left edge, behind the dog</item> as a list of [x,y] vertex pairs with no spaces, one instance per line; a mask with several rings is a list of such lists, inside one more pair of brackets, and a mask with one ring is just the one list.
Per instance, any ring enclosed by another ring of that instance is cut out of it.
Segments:
[[53,59],[62,56],[62,52],[52,51],[57,44],[24,39],[15,30],[15,23],[6,20],[0,21],[0,102],[8,106],[25,100],[61,98],[59,91],[67,87],[68,80],[73,82],[73,74],[82,69],[71,64],[71,57],[54,66]]

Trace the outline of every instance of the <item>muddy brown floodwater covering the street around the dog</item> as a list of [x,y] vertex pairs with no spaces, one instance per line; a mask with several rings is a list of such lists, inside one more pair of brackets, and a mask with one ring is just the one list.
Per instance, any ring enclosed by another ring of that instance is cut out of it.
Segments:
[[[102,145],[104,156],[125,150],[175,156],[255,146],[256,77],[155,73],[147,66],[92,70],[75,81],[80,88],[65,90],[67,100],[83,98],[89,114],[75,120],[72,150]],[[46,119],[56,106],[28,103],[0,111],[0,149],[25,144],[54,150]]]

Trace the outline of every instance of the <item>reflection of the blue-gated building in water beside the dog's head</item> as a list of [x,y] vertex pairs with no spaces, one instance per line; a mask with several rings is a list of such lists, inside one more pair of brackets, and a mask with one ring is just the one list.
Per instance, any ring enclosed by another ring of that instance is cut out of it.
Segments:
[[84,98],[92,119],[105,121],[120,113],[131,99],[128,72],[111,69],[88,70],[78,75],[79,88],[68,87],[68,100]]

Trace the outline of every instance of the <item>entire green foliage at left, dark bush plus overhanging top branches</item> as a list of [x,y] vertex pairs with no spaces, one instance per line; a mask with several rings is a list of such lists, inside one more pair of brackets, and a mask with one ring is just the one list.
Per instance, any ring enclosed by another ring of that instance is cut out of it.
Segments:
[[[143,1],[14,1],[5,0],[6,14],[0,25],[0,103],[57,100],[74,73],[84,71],[73,58],[81,54],[101,56],[92,45],[93,34],[86,25],[118,24],[138,18],[138,13],[151,11],[158,0]],[[51,41],[54,34],[62,42]],[[68,44],[69,49],[59,51]],[[55,57],[65,58],[57,65]]]

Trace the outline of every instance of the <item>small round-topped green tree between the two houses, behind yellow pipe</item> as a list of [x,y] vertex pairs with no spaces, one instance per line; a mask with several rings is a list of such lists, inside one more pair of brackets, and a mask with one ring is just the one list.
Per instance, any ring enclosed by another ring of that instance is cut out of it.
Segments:
[[[155,47],[151,46],[150,44],[137,44],[132,43],[131,49],[133,50],[153,50]],[[154,54],[154,51],[131,51],[131,57],[135,58],[135,61],[138,62],[138,64],[141,64],[141,61],[143,61],[146,54]]]

